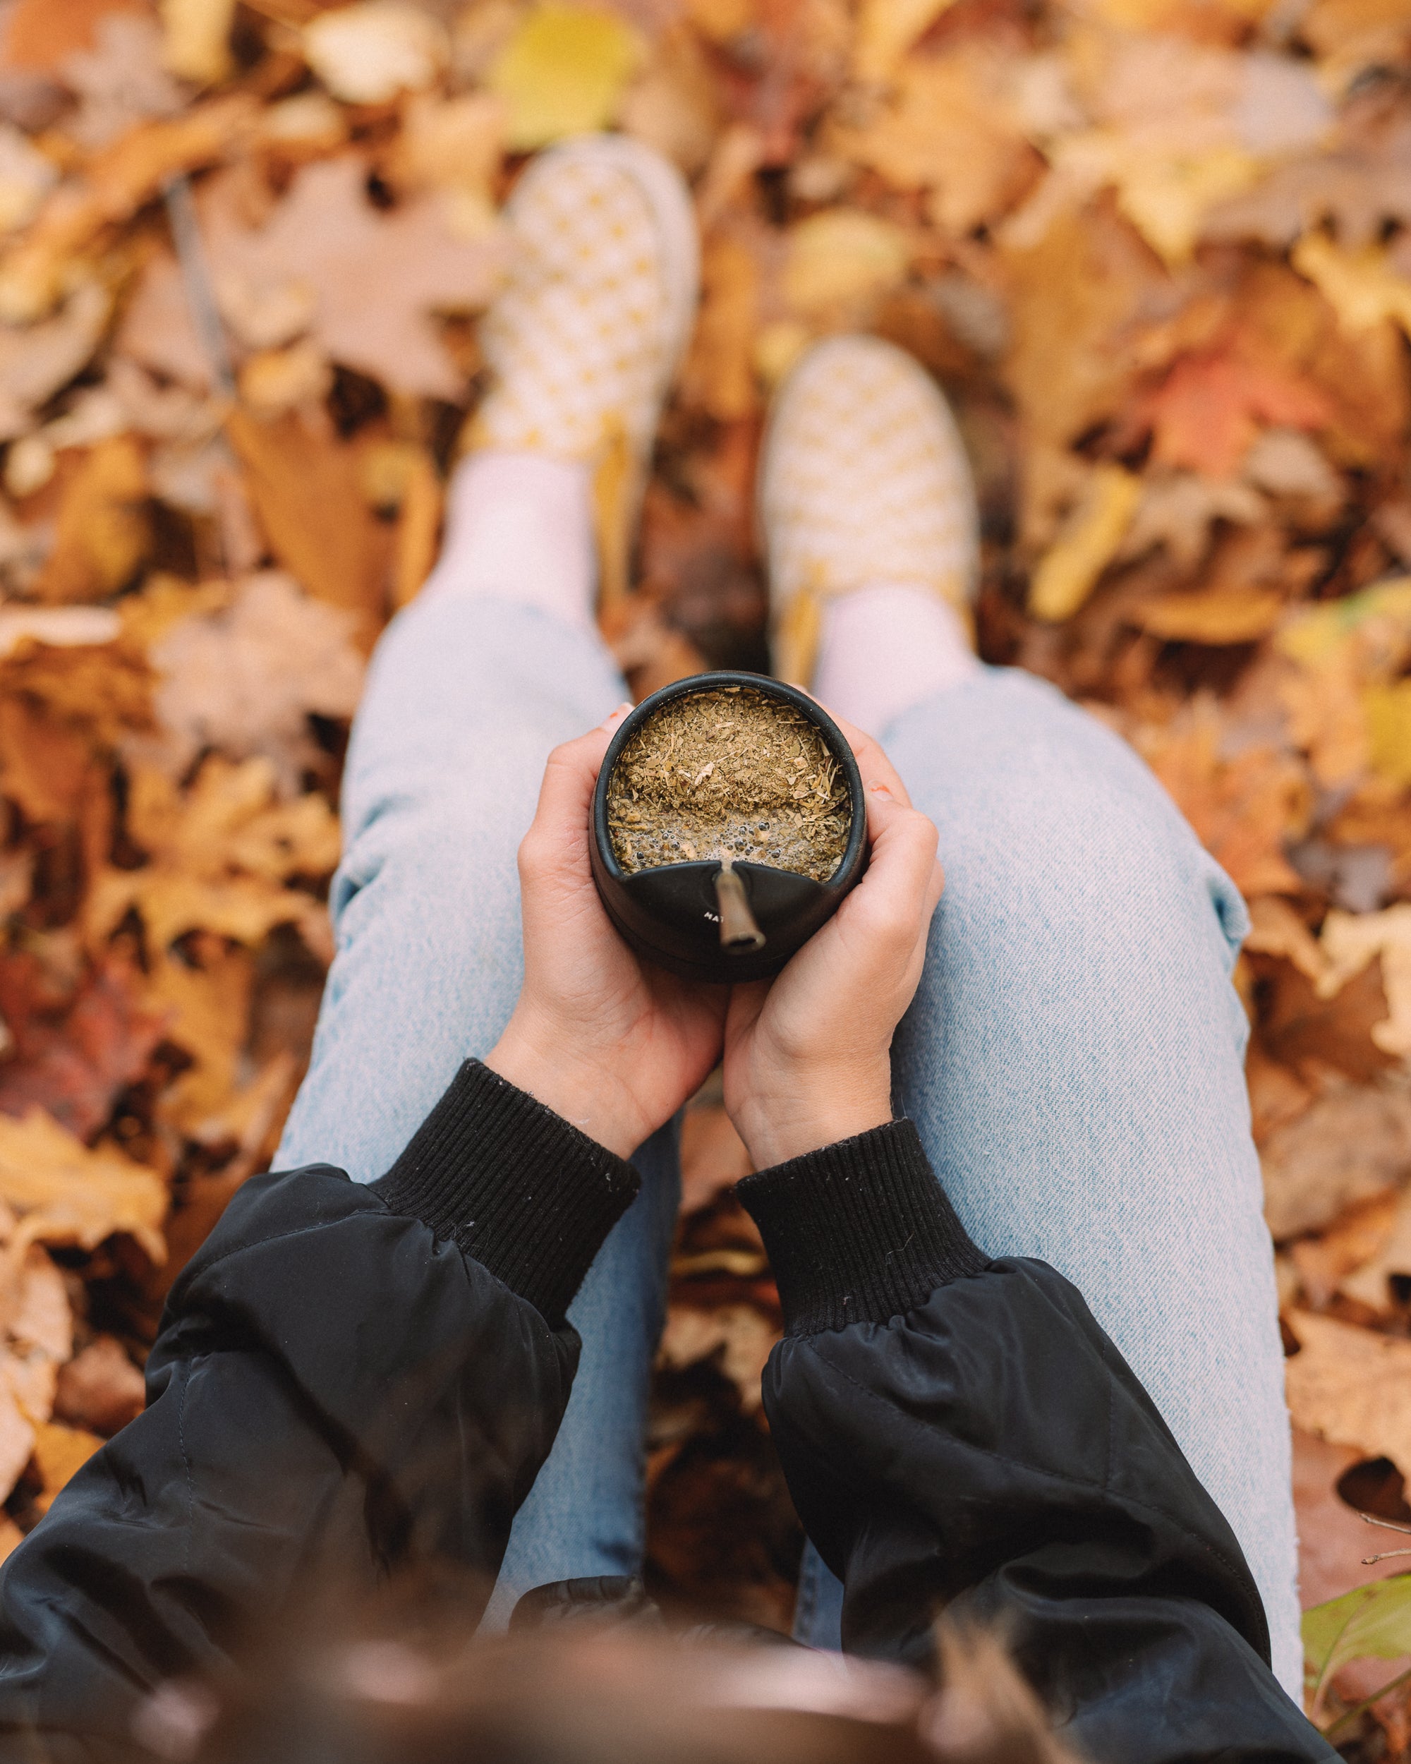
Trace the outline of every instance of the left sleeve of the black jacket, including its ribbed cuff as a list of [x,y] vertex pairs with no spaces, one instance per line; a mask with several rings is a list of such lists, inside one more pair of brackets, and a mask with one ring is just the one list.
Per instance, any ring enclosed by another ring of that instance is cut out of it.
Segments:
[[[489,1593],[630,1164],[467,1064],[395,1168],[245,1184],[168,1300],[146,1411],[0,1579],[0,1750],[122,1750],[161,1679],[420,1563]],[[18,1745],[16,1745],[18,1741]]]

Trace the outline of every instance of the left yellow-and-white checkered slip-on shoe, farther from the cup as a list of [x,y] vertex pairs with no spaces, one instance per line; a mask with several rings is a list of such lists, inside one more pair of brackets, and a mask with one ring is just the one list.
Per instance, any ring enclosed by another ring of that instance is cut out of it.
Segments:
[[607,616],[695,321],[695,212],[672,164],[605,134],[541,153],[504,217],[517,252],[480,325],[492,381],[471,445],[593,464]]

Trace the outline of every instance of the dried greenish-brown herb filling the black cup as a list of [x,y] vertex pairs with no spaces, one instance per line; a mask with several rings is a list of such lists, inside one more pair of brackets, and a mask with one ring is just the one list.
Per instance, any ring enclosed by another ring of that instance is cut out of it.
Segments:
[[612,767],[607,817],[628,875],[748,859],[827,882],[852,827],[820,730],[748,686],[686,693],[649,716]]

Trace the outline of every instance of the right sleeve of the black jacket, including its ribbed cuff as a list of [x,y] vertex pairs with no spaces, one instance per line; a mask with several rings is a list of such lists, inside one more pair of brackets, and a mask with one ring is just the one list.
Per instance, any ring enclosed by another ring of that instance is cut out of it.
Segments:
[[988,1259],[892,1122],[750,1177],[785,1337],[764,1406],[843,1644],[1000,1625],[1095,1764],[1335,1759],[1268,1667],[1235,1533],[1081,1295]]

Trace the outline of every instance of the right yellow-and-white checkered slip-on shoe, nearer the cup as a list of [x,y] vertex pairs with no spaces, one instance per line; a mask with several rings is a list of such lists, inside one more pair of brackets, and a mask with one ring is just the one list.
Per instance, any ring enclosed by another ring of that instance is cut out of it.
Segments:
[[815,344],[780,388],[758,494],[774,672],[810,684],[822,603],[910,586],[967,616],[979,573],[970,466],[929,374],[878,337]]

